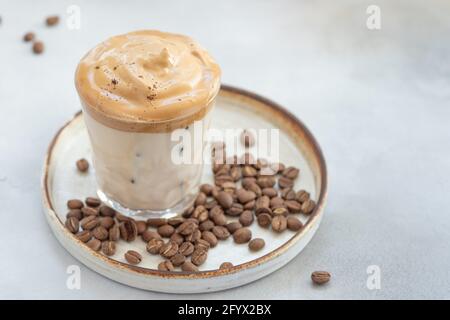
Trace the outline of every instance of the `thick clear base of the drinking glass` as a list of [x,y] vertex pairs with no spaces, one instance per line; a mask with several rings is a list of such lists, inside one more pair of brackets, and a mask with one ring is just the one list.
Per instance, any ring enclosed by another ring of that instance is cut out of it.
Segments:
[[128,217],[142,217],[142,218],[173,218],[181,216],[190,206],[193,205],[196,195],[188,195],[183,200],[178,202],[172,208],[164,210],[149,210],[149,209],[129,209],[122,206],[119,202],[109,198],[102,190],[97,190],[97,195],[106,205],[115,209],[123,215]]

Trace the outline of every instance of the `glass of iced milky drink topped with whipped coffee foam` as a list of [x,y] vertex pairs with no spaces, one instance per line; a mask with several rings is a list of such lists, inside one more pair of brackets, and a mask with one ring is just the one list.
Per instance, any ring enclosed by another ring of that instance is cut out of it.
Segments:
[[182,35],[132,32],[83,57],[75,83],[102,200],[130,214],[179,213],[190,205],[202,165],[174,163],[179,142],[171,133],[188,130],[194,139],[195,121],[208,127],[220,88],[209,54]]

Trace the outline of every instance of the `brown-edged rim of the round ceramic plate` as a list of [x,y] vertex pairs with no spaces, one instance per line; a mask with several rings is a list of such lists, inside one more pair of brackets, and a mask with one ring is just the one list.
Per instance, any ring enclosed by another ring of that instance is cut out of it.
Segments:
[[[297,242],[297,240],[299,240],[311,228],[311,226],[313,225],[315,220],[317,220],[319,218],[319,215],[323,211],[325,202],[326,202],[327,168],[326,168],[325,159],[323,157],[322,150],[320,149],[319,144],[317,143],[316,139],[311,134],[311,132],[308,130],[308,128],[297,117],[295,117],[292,113],[287,111],[284,107],[280,106],[279,104],[277,104],[267,98],[264,98],[258,94],[255,94],[253,92],[239,89],[239,88],[229,86],[229,85],[222,84],[220,92],[222,94],[238,95],[238,96],[242,96],[245,98],[249,98],[250,100],[254,100],[256,102],[262,103],[262,104],[270,107],[271,109],[273,109],[273,111],[278,116],[281,116],[283,118],[283,120],[289,124],[289,128],[296,130],[297,134],[304,136],[305,139],[307,140],[308,144],[312,147],[311,149],[315,155],[315,158],[318,160],[319,171],[321,172],[320,190],[319,190],[319,198],[317,199],[316,208],[309,215],[308,221],[306,222],[306,224],[304,225],[304,227],[302,229],[297,231],[288,241],[283,243],[280,247],[276,248],[275,250],[273,250],[259,258],[244,262],[242,264],[239,264],[239,265],[233,266],[231,268],[227,268],[227,269],[206,270],[206,271],[199,271],[199,272],[194,272],[194,273],[184,272],[184,271],[177,271],[177,272],[159,271],[156,269],[148,269],[148,268],[142,268],[142,267],[138,267],[138,266],[132,266],[127,263],[123,263],[123,262],[114,260],[114,259],[109,258],[99,252],[89,249],[83,242],[78,240],[72,233],[70,233],[69,231],[67,231],[65,229],[64,223],[61,221],[61,219],[56,214],[56,212],[53,208],[53,204],[52,204],[51,198],[50,198],[50,192],[48,189],[49,167],[50,167],[50,162],[52,159],[53,148],[54,148],[56,142],[58,141],[58,138],[59,138],[61,132],[75,118],[77,118],[78,116],[81,115],[81,111],[79,111],[74,115],[74,117],[71,120],[69,120],[63,127],[61,127],[58,130],[58,132],[52,139],[52,141],[48,147],[48,150],[47,150],[45,164],[44,164],[44,172],[43,172],[43,177],[42,177],[43,191],[44,191],[44,195],[45,195],[45,198],[44,198],[45,204],[48,207],[48,209],[51,210],[51,213],[54,215],[54,217],[57,218],[58,221],[60,222],[60,227],[62,228],[62,230],[64,232],[67,232],[67,236],[73,237],[73,240],[77,241],[79,246],[83,247],[85,250],[88,250],[90,252],[90,254],[92,254],[96,258],[99,258],[99,259],[103,260],[105,263],[110,264],[112,267],[116,267],[119,269],[125,269],[127,271],[131,271],[131,272],[134,272],[134,273],[137,273],[140,275],[150,275],[150,276],[158,276],[161,278],[177,278],[177,279],[211,278],[211,277],[217,277],[217,276],[223,276],[223,275],[227,275],[227,274],[236,273],[241,270],[248,269],[248,268],[253,268],[253,267],[256,267],[256,266],[258,266],[266,261],[269,261],[275,257],[278,257],[283,252],[285,252],[287,249],[289,249],[295,242]],[[219,93],[219,95],[221,93]]]

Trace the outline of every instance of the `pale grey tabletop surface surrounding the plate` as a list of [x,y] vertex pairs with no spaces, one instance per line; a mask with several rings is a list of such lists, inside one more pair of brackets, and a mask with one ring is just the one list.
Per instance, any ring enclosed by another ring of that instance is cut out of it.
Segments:
[[[81,30],[66,9],[81,8]],[[381,8],[382,28],[366,27]],[[56,28],[43,19],[63,17]],[[0,0],[0,298],[450,298],[450,4],[448,1]],[[145,292],[81,266],[53,237],[39,179],[55,131],[79,109],[80,57],[110,35],[191,35],[223,82],[286,106],[316,135],[329,168],[323,223],[291,263],[250,285],[202,295]],[[33,30],[41,56],[21,38]],[[366,287],[367,267],[381,289]],[[315,288],[313,270],[333,274]]]

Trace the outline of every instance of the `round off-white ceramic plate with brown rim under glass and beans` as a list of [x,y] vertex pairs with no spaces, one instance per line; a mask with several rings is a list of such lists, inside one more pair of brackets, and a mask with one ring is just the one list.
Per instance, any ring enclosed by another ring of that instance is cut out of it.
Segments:
[[[268,275],[294,258],[311,240],[319,227],[327,193],[325,161],[318,144],[306,127],[279,105],[241,89],[222,86],[212,127],[215,128],[279,128],[280,160],[301,170],[295,190],[305,189],[317,202],[309,216],[298,215],[305,223],[294,233],[275,234],[253,223],[253,237],[265,239],[260,252],[250,252],[247,245],[237,245],[232,237],[211,249],[201,272],[162,272],[156,266],[162,261],[145,251],[140,239],[132,243],[119,241],[117,252],[106,257],[94,252],[76,239],[64,227],[68,199],[95,195],[93,168],[80,174],[75,168],[79,158],[90,159],[90,145],[81,113],[64,125],[50,144],[42,178],[43,206],[47,221],[56,238],[75,258],[89,268],[115,281],[152,291],[170,293],[198,293],[219,291],[244,285]],[[204,181],[212,182],[211,168],[205,166]],[[127,264],[123,258],[127,250],[143,253],[139,266]],[[234,267],[218,270],[224,262]]]

